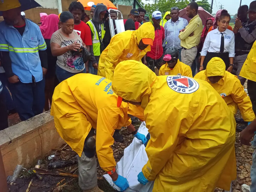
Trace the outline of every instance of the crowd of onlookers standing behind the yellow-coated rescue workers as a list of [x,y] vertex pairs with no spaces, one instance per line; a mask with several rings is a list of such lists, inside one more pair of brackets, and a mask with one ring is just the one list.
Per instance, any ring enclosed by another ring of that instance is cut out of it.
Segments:
[[[191,18],[189,22],[179,17],[178,7],[172,7],[163,17],[159,11],[152,13],[155,39],[142,62],[152,71],[160,70],[165,64],[164,52],[175,47],[179,61],[191,68],[193,77],[206,69],[211,58],[220,57],[226,70],[235,73],[244,84],[245,79],[239,73],[256,39],[255,1],[250,7],[243,5],[238,9],[234,28],[229,26],[227,10],[219,10],[215,18],[202,23],[197,14],[198,5],[189,5],[186,8]],[[100,55],[111,40],[109,14],[114,21],[118,13],[113,10],[109,13],[103,4],[93,5],[90,13],[90,16],[85,13],[80,2],[72,2],[69,12],[41,13],[38,27],[25,19],[19,7],[3,12],[5,21],[0,24],[1,129],[8,127],[8,114],[17,112],[24,121],[49,110],[59,82],[78,73],[98,74]],[[149,22],[143,8],[131,9],[128,16],[124,20],[125,30],[136,30]],[[115,22],[113,24],[116,34]],[[86,63],[82,52],[77,51],[81,46],[91,54]]]

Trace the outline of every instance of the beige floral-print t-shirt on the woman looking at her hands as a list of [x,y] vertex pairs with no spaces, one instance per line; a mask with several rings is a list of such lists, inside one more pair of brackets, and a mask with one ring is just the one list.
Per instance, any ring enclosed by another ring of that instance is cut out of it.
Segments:
[[[82,39],[79,37],[76,31],[73,30],[74,38],[70,39],[68,37],[65,37],[60,32],[61,29],[57,30],[54,34],[51,36],[51,42],[50,43],[56,43],[60,47],[66,47],[68,45],[71,45],[75,41],[80,43],[82,45]],[[84,62],[82,58],[82,53],[78,55],[72,56],[71,51],[67,51],[61,56],[57,57],[57,65],[71,73],[79,73],[84,70]]]

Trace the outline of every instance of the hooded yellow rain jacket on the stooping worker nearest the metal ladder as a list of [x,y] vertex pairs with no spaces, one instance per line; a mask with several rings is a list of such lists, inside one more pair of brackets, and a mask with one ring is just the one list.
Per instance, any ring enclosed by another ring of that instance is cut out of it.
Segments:
[[154,40],[155,29],[151,22],[144,23],[135,31],[128,30],[112,37],[110,44],[100,56],[98,75],[112,80],[114,69],[121,61],[141,61],[151,50],[150,45],[144,50],[138,48],[142,38]]

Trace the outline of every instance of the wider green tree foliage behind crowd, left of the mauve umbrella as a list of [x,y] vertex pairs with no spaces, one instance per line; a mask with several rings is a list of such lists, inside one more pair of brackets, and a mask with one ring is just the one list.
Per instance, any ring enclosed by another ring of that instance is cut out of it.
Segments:
[[189,4],[188,0],[155,0],[155,2],[152,4],[145,4],[145,9],[149,14],[153,13],[155,10],[165,13],[166,11],[170,11],[171,7],[184,9],[187,4]]

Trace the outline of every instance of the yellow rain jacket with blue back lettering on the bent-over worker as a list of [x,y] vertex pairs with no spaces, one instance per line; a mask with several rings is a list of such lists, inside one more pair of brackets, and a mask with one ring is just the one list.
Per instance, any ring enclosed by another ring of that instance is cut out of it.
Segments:
[[114,130],[131,124],[127,113],[133,116],[141,113],[134,105],[132,109],[136,113],[133,113],[124,102],[118,108],[117,95],[113,93],[111,84],[104,77],[77,74],[55,88],[51,106],[59,135],[79,156],[92,127],[97,130],[96,152],[105,171],[113,170],[116,165],[111,148]]

